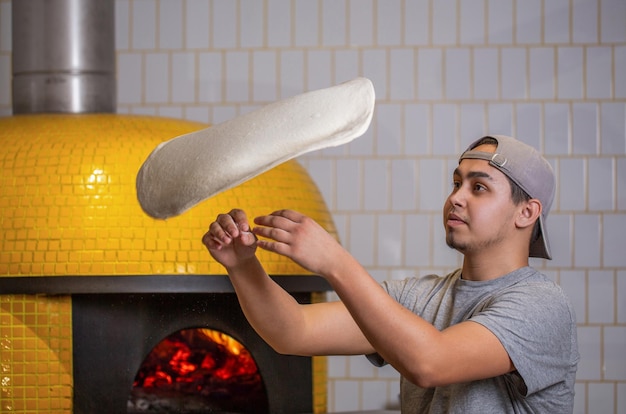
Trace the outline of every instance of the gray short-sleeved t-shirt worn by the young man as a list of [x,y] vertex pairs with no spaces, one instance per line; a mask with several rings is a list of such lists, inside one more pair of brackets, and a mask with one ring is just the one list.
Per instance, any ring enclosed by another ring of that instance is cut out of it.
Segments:
[[[516,371],[420,388],[401,379],[403,413],[571,413],[578,364],[576,318],[561,288],[531,267],[498,279],[425,276],[384,282],[399,303],[443,330],[471,320],[493,332]],[[378,354],[367,356],[375,365]]]

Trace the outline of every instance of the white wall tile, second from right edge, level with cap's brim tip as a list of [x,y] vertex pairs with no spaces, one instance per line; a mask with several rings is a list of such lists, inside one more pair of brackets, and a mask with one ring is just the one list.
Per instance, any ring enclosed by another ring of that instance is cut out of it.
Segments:
[[[575,179],[572,177],[572,180]],[[574,266],[581,268],[600,266],[600,230],[599,215],[574,216]]]

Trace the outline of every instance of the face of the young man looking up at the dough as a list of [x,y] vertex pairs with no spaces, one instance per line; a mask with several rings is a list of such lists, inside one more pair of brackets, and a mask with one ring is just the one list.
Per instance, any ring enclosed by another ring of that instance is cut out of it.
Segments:
[[[479,151],[494,152],[494,145]],[[448,246],[463,254],[501,245],[515,228],[515,204],[506,176],[485,160],[464,159],[443,207]]]

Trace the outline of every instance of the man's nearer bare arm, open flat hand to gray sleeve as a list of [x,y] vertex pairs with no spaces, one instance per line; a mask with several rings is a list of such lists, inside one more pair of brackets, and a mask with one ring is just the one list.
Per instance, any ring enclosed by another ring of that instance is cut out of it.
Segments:
[[[415,315],[312,219],[285,210],[255,219],[259,247],[290,257],[335,289],[370,344],[422,387],[489,378],[514,370],[496,336],[474,322],[443,331]],[[336,245],[333,245],[336,243]]]

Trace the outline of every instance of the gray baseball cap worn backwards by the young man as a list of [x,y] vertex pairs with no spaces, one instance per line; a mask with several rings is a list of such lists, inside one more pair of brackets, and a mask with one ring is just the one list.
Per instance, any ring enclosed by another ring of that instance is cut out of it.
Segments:
[[[474,148],[485,138],[497,141],[495,152],[476,151]],[[539,235],[530,243],[529,257],[552,259],[546,220],[554,200],[556,179],[552,166],[535,148],[515,138],[504,135],[488,135],[474,141],[459,158],[489,161],[489,164],[526,192],[531,198],[541,202],[542,212],[538,220]]]

